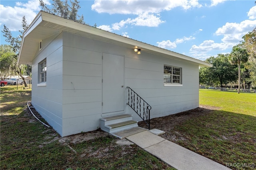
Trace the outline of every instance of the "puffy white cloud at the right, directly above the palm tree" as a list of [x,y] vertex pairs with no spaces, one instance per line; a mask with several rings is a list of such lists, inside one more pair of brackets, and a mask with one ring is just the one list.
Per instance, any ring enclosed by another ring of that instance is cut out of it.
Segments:
[[256,20],[244,20],[241,23],[226,23],[217,29],[215,35],[223,35],[224,43],[236,43],[242,40],[242,37],[256,27]]

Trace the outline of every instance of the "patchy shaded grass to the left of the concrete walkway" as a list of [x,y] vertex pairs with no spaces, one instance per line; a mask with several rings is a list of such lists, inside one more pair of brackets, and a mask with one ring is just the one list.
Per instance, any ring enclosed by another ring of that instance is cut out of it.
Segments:
[[116,144],[118,139],[110,136],[60,143],[56,131],[28,111],[31,89],[1,87],[0,100],[1,170],[173,169],[136,145]]

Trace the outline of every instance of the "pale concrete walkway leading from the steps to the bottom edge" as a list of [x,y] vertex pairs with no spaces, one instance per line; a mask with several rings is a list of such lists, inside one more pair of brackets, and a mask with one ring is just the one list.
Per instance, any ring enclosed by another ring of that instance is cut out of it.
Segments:
[[113,134],[126,138],[178,170],[230,170],[140,127]]

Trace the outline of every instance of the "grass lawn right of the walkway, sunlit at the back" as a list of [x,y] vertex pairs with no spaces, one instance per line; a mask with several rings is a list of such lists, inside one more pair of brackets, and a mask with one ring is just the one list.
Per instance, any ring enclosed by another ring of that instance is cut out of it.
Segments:
[[175,142],[232,169],[255,168],[256,94],[200,89],[199,97],[213,110],[176,126]]

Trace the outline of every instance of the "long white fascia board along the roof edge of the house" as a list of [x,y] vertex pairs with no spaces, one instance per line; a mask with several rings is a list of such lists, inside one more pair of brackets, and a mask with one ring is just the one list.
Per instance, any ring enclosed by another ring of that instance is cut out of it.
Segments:
[[[146,50],[154,51],[156,53],[159,53],[159,55],[164,54],[165,56],[170,56],[170,57],[175,57],[177,59],[190,61],[190,62],[193,62],[195,64],[198,64],[199,66],[207,66],[207,67],[212,66],[212,64],[206,63],[204,61],[200,61],[198,59],[194,59],[192,57],[188,57],[188,56],[185,56],[185,55],[173,52],[173,51],[162,49],[162,48],[159,48],[159,47],[147,44],[147,43],[136,41],[134,39],[123,37],[121,35],[117,35],[117,34],[102,30],[102,29],[97,29],[97,28],[94,28],[94,27],[89,26],[89,25],[78,23],[78,22],[75,22],[75,21],[72,21],[72,20],[62,18],[60,16],[56,16],[56,15],[53,15],[53,14],[42,12],[42,11],[32,21],[32,23],[30,24],[31,26],[24,33],[24,37],[26,37],[26,35],[28,35],[28,33],[30,33],[30,31],[32,31],[34,28],[36,28],[36,26],[38,24],[40,24],[42,21],[47,21],[47,22],[54,23],[54,24],[57,24],[57,25],[60,25],[60,26],[63,26],[63,27],[71,28],[73,30],[78,30],[78,31],[90,33],[90,34],[96,35],[98,37],[104,37],[104,38],[107,38],[107,39],[112,39],[114,41],[126,43],[128,45],[131,45],[131,47],[133,47],[133,48],[140,48],[142,50],[144,49],[145,51]],[[62,31],[62,30],[59,29],[59,31]],[[23,37],[22,43],[24,41],[24,37]]]

